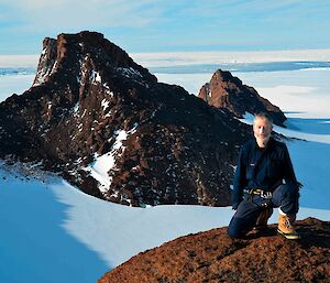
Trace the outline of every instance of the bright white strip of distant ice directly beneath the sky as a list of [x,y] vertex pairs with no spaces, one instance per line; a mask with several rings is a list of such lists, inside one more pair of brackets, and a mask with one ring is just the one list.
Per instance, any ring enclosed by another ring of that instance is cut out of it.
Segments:
[[[141,64],[146,67],[223,63],[266,63],[304,61],[330,62],[330,47],[276,51],[168,51],[127,53],[138,64]],[[0,67],[36,67],[38,58],[41,56],[40,54],[0,54]],[[199,56],[196,56],[196,54],[198,54]]]

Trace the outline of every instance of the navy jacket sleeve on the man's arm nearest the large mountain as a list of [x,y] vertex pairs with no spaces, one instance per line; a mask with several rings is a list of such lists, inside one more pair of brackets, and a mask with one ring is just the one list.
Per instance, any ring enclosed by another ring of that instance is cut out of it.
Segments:
[[242,146],[240,150],[240,155],[238,160],[238,166],[233,178],[233,192],[232,192],[232,207],[235,209],[238,205],[243,199],[243,189],[246,185],[246,176],[245,176],[245,154],[244,148]]

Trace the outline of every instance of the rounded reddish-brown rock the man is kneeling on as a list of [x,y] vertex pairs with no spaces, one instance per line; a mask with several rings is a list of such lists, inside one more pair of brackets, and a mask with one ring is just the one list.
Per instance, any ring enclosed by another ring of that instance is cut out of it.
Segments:
[[272,228],[245,239],[229,238],[227,227],[185,236],[139,253],[98,282],[329,282],[329,221],[298,221],[298,241]]

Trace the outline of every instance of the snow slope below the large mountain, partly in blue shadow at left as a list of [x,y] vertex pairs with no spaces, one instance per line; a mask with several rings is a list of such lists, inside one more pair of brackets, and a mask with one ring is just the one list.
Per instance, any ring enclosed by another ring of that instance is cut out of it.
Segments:
[[[6,179],[4,179],[4,178]],[[230,207],[132,208],[0,168],[0,282],[96,282],[134,254],[179,236],[227,226]],[[301,208],[298,218],[329,220]],[[277,213],[271,221],[276,222]]]

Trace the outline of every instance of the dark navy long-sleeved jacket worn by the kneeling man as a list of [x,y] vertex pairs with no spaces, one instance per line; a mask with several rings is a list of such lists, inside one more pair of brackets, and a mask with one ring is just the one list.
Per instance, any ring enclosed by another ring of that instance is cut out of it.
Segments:
[[271,138],[265,149],[258,148],[255,139],[244,143],[233,179],[233,206],[242,200],[244,188],[274,191],[283,184],[283,179],[286,184],[297,184],[288,150],[283,142]]

